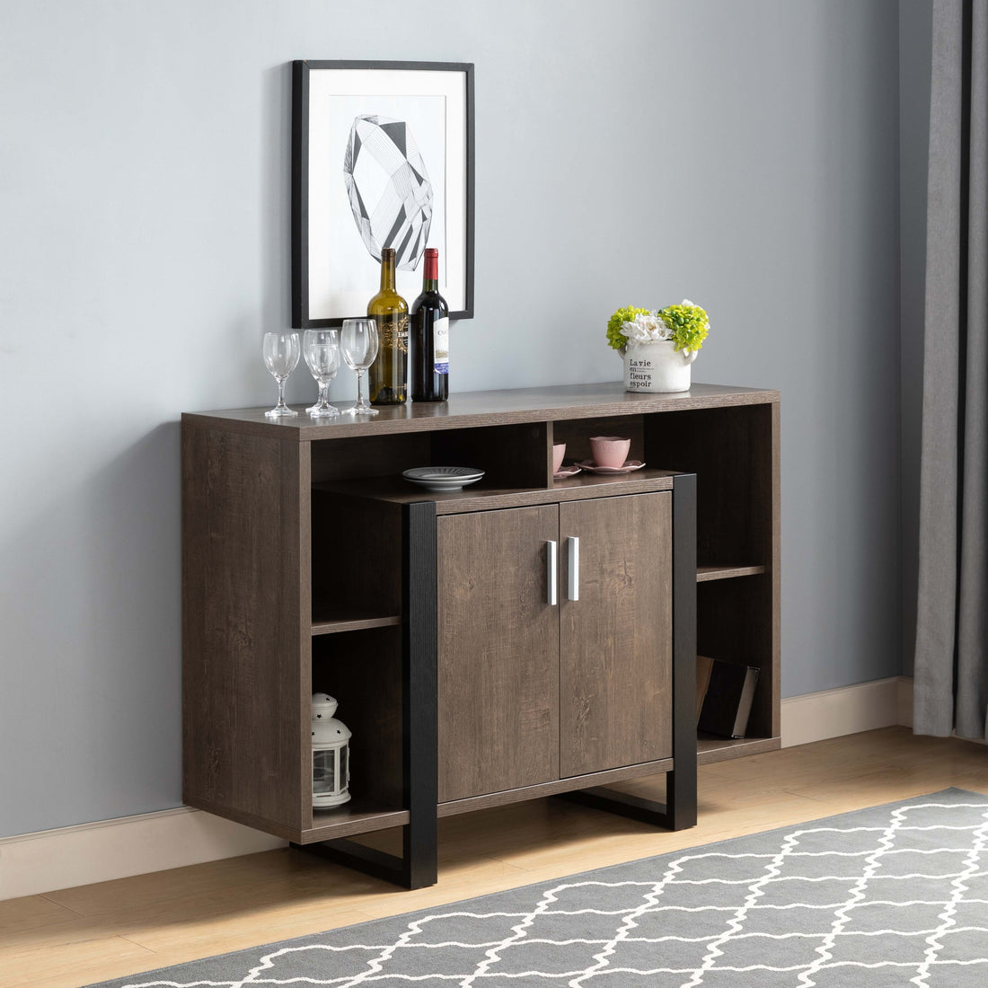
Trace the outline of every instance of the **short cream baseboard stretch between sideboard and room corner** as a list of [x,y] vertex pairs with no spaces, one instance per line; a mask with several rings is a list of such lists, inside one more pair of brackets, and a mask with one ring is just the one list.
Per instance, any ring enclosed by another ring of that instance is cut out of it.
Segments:
[[[901,676],[782,700],[782,747],[825,741],[902,723]],[[909,681],[910,687],[912,680]],[[912,692],[908,696],[912,723]]]

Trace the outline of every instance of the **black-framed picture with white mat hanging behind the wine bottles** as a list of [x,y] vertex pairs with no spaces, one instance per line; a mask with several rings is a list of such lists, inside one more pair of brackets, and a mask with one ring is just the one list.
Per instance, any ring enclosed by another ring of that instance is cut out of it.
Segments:
[[411,302],[427,246],[450,317],[472,318],[472,63],[293,62],[292,326],[366,315],[385,247]]

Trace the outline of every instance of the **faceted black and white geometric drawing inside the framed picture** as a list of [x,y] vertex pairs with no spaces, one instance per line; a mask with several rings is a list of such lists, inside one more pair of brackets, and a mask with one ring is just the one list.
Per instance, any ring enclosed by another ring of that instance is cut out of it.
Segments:
[[343,159],[350,207],[375,261],[395,250],[399,271],[415,271],[432,225],[433,187],[404,121],[365,114],[354,120]]

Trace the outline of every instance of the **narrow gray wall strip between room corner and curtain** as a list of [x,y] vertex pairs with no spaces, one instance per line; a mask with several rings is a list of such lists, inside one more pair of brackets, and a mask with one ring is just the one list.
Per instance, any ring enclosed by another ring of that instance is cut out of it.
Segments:
[[899,4],[899,149],[902,337],[902,671],[913,674],[919,565],[923,317],[926,309],[927,160],[930,135],[930,0]]

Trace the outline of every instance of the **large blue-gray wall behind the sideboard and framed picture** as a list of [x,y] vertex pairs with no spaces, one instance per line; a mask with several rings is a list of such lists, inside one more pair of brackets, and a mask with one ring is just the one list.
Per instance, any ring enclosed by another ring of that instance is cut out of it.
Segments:
[[782,389],[783,693],[897,674],[897,35],[895,0],[0,7],[0,834],[180,800],[176,423],[273,396],[292,58],[476,63],[453,387],[617,379],[612,309],[700,301],[696,377]]

